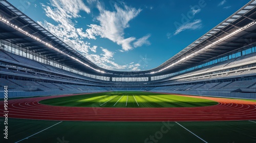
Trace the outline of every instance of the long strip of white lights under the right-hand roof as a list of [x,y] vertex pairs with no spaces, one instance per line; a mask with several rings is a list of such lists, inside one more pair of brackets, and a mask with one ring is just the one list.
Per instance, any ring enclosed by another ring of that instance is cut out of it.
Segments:
[[[250,22],[249,24],[247,24],[246,26],[243,26],[243,27],[241,27],[241,28],[239,28],[239,29],[233,31],[232,33],[230,33],[230,34],[228,34],[228,35],[226,35],[226,36],[220,38],[219,40],[217,40],[217,41],[215,41],[215,42],[212,42],[211,44],[205,46],[203,49],[201,49],[201,50],[199,50],[199,51],[197,51],[197,52],[195,52],[195,53],[193,53],[193,54],[190,54],[190,55],[186,56],[185,58],[182,58],[181,60],[179,60],[179,61],[177,61],[177,62],[175,62],[175,63],[173,63],[173,64],[171,64],[171,65],[169,65],[169,66],[167,66],[167,67],[164,67],[164,68],[162,68],[162,69],[160,69],[160,70],[158,70],[158,71],[155,71],[155,73],[158,73],[158,72],[163,71],[163,70],[165,70],[165,69],[167,69],[167,68],[169,68],[169,67],[171,67],[171,66],[173,66],[173,65],[175,65],[175,64],[178,64],[178,63],[180,63],[181,61],[184,61],[185,59],[187,59],[187,58],[189,58],[189,57],[191,57],[191,56],[194,56],[194,55],[196,55],[196,54],[198,54],[198,53],[200,53],[200,52],[202,52],[202,51],[208,49],[209,47],[214,46],[214,45],[216,45],[216,44],[218,44],[218,43],[220,43],[220,42],[222,42],[222,41],[224,41],[224,40],[230,38],[231,36],[236,35],[237,33],[239,33],[239,32],[241,32],[241,31],[243,31],[243,30],[245,30],[245,29],[247,29],[247,28],[253,26],[255,23],[256,23],[255,21],[252,21],[252,22]],[[152,74],[155,74],[155,73],[152,73]]]

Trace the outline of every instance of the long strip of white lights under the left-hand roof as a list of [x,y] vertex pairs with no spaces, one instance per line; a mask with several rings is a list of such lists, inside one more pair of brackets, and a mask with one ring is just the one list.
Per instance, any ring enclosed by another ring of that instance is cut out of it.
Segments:
[[66,53],[64,53],[64,52],[62,52],[62,51],[60,51],[60,50],[57,49],[56,47],[53,47],[53,46],[52,46],[51,44],[49,44],[48,42],[42,41],[42,40],[39,39],[38,37],[35,37],[35,36],[29,34],[27,31],[24,31],[22,28],[19,28],[18,26],[14,25],[14,24],[11,23],[9,20],[6,20],[4,17],[1,17],[1,16],[0,16],[0,21],[6,23],[7,25],[11,26],[12,28],[18,30],[19,32],[22,32],[23,34],[25,34],[25,35],[27,35],[27,36],[29,36],[29,37],[31,37],[31,38],[37,40],[38,42],[41,42],[42,44],[45,44],[46,46],[50,47],[51,49],[53,49],[53,50],[55,50],[55,51],[57,51],[57,52],[59,52],[59,53],[65,55],[65,56],[68,56],[68,57],[70,57],[70,58],[76,60],[77,62],[79,62],[79,63],[81,63],[81,64],[83,64],[83,65],[85,65],[85,66],[87,66],[87,67],[92,68],[92,69],[95,70],[95,71],[98,71],[99,73],[105,73],[105,71],[101,71],[101,70],[99,70],[99,69],[93,68],[93,67],[91,67],[90,65],[88,65],[88,64],[86,64],[86,63],[84,63],[84,62],[78,60],[77,58],[72,57],[72,56],[70,56],[70,55],[68,55],[68,54],[66,54]]

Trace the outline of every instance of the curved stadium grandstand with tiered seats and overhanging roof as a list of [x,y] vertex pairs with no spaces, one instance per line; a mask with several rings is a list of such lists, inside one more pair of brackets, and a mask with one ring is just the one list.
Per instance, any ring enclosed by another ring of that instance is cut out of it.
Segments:
[[255,1],[144,71],[101,68],[10,3],[0,4],[0,84],[10,97],[140,90],[256,98]]

